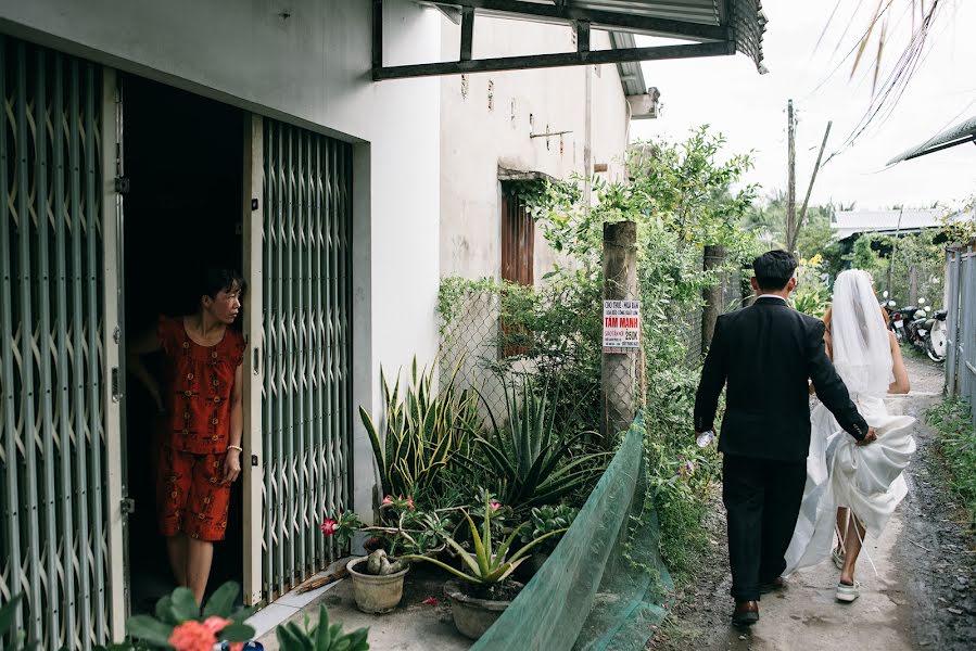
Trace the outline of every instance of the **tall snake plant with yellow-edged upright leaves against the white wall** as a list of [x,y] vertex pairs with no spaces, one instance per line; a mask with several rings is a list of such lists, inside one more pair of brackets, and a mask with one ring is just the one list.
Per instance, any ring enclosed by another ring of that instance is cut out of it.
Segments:
[[391,388],[382,370],[386,404],[382,435],[369,413],[359,418],[369,435],[385,495],[409,495],[436,487],[438,474],[467,446],[467,433],[480,422],[477,396],[455,386],[457,368],[440,393],[433,388],[436,366],[410,367],[410,382],[401,397],[400,374]]

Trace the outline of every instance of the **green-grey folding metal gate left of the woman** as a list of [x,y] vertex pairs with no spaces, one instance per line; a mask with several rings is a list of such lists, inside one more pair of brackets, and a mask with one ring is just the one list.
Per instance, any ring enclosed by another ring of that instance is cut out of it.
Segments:
[[41,648],[91,649],[125,616],[115,115],[100,66],[3,36],[0,56],[0,603],[24,596]]

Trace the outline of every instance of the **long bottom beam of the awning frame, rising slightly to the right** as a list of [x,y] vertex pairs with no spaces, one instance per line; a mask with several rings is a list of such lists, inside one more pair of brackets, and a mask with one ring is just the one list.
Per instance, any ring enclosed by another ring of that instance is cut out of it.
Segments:
[[[373,1],[377,2],[378,0]],[[376,41],[373,41],[373,46],[376,46]],[[481,59],[476,61],[373,67],[372,78],[375,81],[380,81],[382,79],[404,79],[408,77],[460,75],[496,71],[521,71],[570,65],[596,65],[601,63],[623,63],[628,61],[660,61],[664,59],[724,56],[734,53],[735,43],[732,42],[658,46],[654,48],[628,48],[622,50],[595,50],[591,52],[565,52],[559,54],[503,56],[499,59]],[[375,51],[373,60],[376,60]]]

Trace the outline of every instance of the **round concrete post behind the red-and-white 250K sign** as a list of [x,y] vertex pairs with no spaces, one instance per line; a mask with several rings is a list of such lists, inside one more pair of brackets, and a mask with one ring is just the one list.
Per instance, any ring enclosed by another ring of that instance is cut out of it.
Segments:
[[[604,301],[638,301],[637,225],[618,221],[604,225]],[[643,317],[642,317],[643,318]],[[600,430],[609,444],[634,420],[637,405],[635,371],[639,349],[604,352],[600,378],[603,406]]]

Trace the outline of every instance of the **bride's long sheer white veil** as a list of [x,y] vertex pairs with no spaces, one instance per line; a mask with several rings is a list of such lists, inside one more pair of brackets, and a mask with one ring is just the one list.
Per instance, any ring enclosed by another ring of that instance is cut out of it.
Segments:
[[852,396],[884,396],[895,382],[890,340],[866,271],[850,269],[837,277],[832,312],[837,373]]

